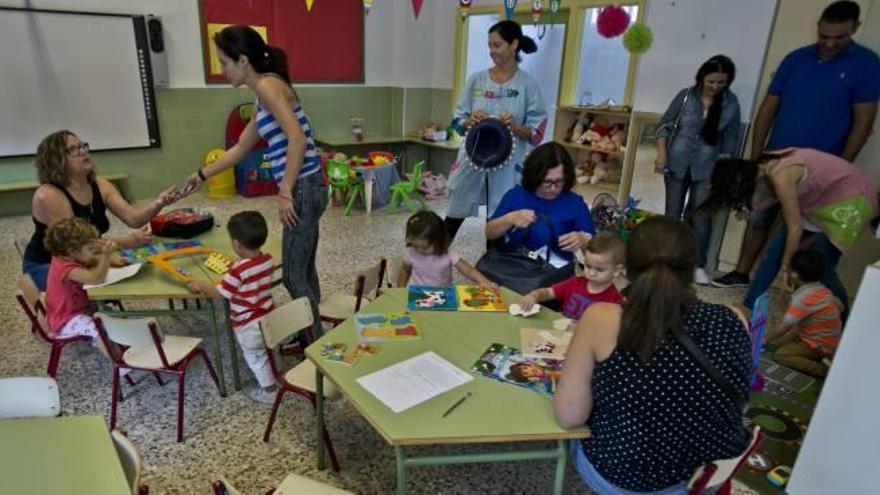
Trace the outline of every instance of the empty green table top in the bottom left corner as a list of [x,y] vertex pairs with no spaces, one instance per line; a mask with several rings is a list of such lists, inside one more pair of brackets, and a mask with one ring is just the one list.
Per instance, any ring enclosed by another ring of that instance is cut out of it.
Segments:
[[3,493],[131,493],[100,416],[0,420]]

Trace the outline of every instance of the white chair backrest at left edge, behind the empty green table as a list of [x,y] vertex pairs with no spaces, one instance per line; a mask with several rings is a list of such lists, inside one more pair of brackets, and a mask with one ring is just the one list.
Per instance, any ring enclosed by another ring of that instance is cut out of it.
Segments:
[[58,383],[42,376],[0,379],[0,419],[61,414]]

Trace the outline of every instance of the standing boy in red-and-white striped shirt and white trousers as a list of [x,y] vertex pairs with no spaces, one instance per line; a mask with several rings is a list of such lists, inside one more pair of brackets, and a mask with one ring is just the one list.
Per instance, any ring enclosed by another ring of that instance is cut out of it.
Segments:
[[269,230],[266,219],[257,211],[236,213],[229,219],[226,229],[232,240],[232,249],[241,259],[232,264],[219,284],[192,279],[188,286],[193,292],[229,300],[233,333],[244,360],[260,384],[260,388],[250,394],[251,398],[272,404],[277,383],[259,323],[259,319],[274,307],[271,289],[275,264],[272,256],[260,250]]

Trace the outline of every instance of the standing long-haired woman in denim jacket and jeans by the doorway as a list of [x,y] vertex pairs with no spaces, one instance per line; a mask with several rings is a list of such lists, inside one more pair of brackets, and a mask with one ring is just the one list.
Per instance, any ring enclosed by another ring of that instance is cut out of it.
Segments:
[[[739,143],[740,113],[730,84],[736,75],[733,61],[715,55],[697,71],[696,84],[681,90],[657,127],[655,170],[666,184],[665,214],[690,223],[700,255],[694,280],[709,283],[709,217],[696,208],[709,194],[709,178],[719,158],[733,155]],[[685,207],[685,197],[687,206]]]

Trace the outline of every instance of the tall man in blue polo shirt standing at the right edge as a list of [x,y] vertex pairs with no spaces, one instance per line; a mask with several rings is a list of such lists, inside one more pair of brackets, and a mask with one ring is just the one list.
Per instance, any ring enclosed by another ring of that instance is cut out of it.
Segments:
[[[859,14],[855,2],[832,3],[819,19],[818,42],[779,64],[755,117],[752,158],[765,149],[798,147],[855,160],[871,134],[880,98],[880,59],[852,40]],[[736,270],[712,285],[749,284],[777,213],[773,207],[752,215]]]

